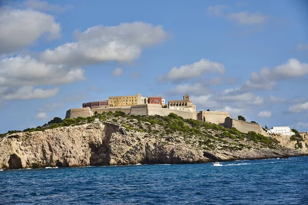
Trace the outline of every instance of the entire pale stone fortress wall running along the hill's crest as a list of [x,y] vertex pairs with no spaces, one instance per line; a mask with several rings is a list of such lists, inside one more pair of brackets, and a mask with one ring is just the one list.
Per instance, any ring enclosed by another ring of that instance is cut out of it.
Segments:
[[103,113],[103,112],[115,112],[122,111],[125,114],[129,115],[161,115],[167,116],[170,113],[175,113],[184,119],[196,119],[202,120],[205,122],[211,122],[213,124],[222,125],[227,128],[236,128],[243,133],[249,131],[254,131],[256,133],[267,136],[266,132],[262,129],[261,125],[254,124],[251,122],[241,121],[237,119],[229,118],[228,112],[219,112],[219,111],[200,111],[200,112],[189,112],[185,110],[174,110],[168,108],[162,108],[161,105],[156,104],[143,104],[143,105],[133,105],[130,107],[115,107],[115,108],[73,108],[66,111],[65,118],[76,118],[81,117],[90,117],[94,115],[94,112]]

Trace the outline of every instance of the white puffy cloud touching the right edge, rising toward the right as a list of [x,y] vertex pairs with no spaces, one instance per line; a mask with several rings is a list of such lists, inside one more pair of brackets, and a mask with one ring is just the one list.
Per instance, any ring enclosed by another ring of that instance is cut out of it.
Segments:
[[276,86],[277,80],[286,80],[302,77],[308,74],[308,64],[300,63],[295,58],[288,59],[286,64],[273,69],[262,68],[260,73],[253,72],[243,88],[270,90]]

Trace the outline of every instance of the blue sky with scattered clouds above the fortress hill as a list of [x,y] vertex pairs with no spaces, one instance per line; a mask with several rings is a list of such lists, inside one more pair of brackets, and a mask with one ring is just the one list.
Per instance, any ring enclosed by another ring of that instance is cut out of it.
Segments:
[[1,1],[0,133],[108,96],[308,131],[308,3]]

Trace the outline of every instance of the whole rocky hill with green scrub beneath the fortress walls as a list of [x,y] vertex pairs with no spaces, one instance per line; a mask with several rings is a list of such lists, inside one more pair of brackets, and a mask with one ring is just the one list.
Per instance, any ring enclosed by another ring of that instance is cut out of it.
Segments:
[[202,163],[308,154],[298,137],[266,137],[201,120],[121,111],[56,120],[0,135],[0,169]]

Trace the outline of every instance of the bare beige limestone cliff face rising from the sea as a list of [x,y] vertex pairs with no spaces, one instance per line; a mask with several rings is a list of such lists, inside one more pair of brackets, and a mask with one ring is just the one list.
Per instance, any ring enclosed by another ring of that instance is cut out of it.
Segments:
[[0,169],[202,163],[308,154],[295,149],[205,151],[172,136],[127,130],[107,122],[23,132],[0,138]]

